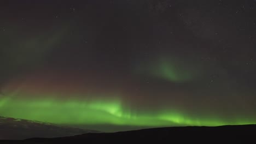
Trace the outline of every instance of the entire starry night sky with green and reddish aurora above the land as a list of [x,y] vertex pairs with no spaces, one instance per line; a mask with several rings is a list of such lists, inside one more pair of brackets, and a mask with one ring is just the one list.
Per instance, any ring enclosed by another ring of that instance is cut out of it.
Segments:
[[253,0],[1,1],[0,12],[0,116],[106,131],[256,123]]

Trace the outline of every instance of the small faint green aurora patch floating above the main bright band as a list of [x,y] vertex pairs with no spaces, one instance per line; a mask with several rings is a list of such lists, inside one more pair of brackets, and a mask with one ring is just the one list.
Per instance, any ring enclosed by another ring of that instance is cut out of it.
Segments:
[[146,76],[182,83],[194,80],[200,73],[199,69],[199,64],[191,64],[176,57],[160,57],[137,65],[135,71]]

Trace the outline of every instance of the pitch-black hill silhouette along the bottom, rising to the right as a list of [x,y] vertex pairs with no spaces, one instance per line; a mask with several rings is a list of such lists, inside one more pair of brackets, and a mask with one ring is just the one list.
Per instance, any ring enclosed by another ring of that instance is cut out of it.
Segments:
[[52,139],[33,138],[21,141],[0,141],[0,143],[255,143],[255,140],[256,125],[226,125],[220,127],[154,128],[118,133],[89,133]]

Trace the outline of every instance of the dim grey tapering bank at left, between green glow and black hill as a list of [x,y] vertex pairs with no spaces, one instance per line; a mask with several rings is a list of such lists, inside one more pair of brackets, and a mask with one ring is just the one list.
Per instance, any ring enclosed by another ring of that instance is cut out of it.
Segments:
[[24,140],[31,137],[62,137],[97,132],[94,130],[61,127],[51,123],[0,116],[0,140]]

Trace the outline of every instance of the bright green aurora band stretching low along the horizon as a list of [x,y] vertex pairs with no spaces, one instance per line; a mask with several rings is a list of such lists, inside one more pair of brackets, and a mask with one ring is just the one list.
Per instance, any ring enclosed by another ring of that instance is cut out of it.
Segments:
[[[44,96],[44,95],[40,95]],[[121,100],[112,99],[19,99],[0,98],[0,115],[55,124],[113,124],[143,127],[170,127],[184,125],[217,126],[226,124],[252,124],[255,119],[237,119],[229,122],[222,118],[189,117],[178,110],[142,112],[127,109]],[[215,116],[217,117],[217,116]]]

